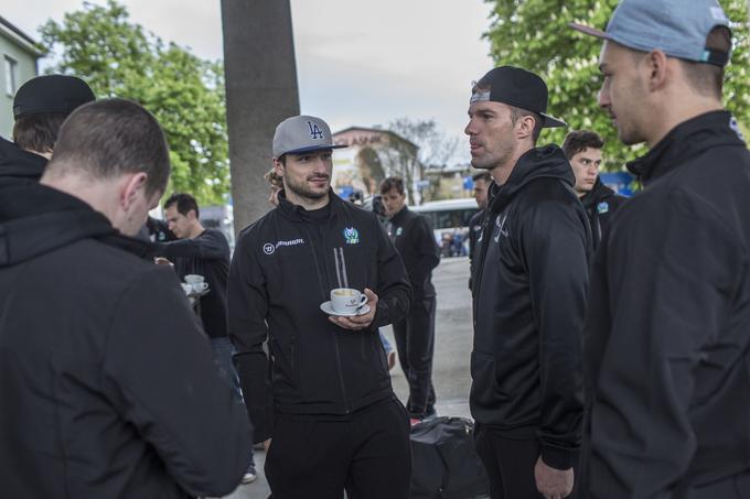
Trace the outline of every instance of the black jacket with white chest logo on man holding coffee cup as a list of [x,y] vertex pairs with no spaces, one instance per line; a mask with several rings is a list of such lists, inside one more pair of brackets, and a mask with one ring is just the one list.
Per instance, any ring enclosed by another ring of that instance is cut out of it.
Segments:
[[[324,218],[279,193],[279,206],[243,230],[229,269],[229,336],[256,442],[271,436],[275,411],[349,414],[393,397],[377,334],[406,317],[411,289],[375,214],[332,191]],[[332,324],[320,305],[335,288],[373,290],[367,330]],[[268,338],[272,368],[262,344]]]

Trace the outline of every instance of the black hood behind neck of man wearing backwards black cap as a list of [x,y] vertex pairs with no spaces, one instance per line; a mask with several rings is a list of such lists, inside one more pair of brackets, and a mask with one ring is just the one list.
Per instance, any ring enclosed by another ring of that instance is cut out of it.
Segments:
[[576,184],[570,163],[559,147],[549,144],[524,153],[505,184],[492,184],[490,210],[501,213],[526,185],[539,178],[558,178],[570,187]]

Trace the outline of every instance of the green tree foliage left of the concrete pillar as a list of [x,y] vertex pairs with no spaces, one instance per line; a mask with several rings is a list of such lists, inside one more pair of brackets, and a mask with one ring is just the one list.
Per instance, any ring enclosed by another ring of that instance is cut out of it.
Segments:
[[164,44],[129,21],[115,0],[84,2],[61,23],[41,29],[56,55],[53,73],[85,79],[98,98],[140,102],[157,117],[170,145],[170,192],[193,194],[199,203],[222,204],[228,192],[229,164],[224,69],[188,48]]

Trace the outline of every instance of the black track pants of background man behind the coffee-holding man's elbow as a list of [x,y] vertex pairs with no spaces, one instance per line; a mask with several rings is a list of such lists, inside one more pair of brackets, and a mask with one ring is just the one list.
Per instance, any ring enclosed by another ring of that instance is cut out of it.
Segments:
[[435,351],[435,296],[415,299],[409,315],[394,323],[394,337],[401,370],[409,383],[406,410],[411,417],[432,412],[432,354]]

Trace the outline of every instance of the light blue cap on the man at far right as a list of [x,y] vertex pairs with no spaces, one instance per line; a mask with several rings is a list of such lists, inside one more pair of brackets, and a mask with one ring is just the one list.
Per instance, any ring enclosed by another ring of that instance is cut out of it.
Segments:
[[635,51],[658,48],[671,57],[726,66],[730,54],[706,46],[716,26],[729,29],[717,0],[622,0],[606,32],[570,23],[574,30]]

